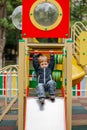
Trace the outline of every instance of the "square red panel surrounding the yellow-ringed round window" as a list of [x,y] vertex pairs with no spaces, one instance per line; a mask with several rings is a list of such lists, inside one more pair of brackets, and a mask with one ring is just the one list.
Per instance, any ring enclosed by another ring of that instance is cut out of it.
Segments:
[[[70,37],[69,21],[70,21],[70,7],[69,0],[56,0],[63,10],[63,18],[61,23],[53,30],[43,31],[37,29],[30,21],[30,8],[36,0],[23,0],[23,18],[22,18],[22,37],[23,38],[68,38]],[[26,34],[24,36],[24,34]],[[67,35],[68,34],[68,35]]]

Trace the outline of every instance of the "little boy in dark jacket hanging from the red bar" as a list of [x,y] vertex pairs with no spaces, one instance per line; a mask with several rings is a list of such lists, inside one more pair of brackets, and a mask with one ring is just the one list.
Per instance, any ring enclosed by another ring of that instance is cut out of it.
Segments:
[[38,77],[36,92],[41,104],[44,104],[46,92],[49,93],[49,97],[52,101],[55,100],[56,82],[52,80],[52,71],[55,61],[53,51],[50,51],[50,53],[49,62],[45,55],[37,53],[33,55],[33,67]]

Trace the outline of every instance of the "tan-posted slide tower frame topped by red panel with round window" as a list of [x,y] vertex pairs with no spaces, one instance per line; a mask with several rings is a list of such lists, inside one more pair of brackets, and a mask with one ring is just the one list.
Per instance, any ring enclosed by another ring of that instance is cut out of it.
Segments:
[[[67,10],[67,14],[66,14],[66,10]],[[27,120],[26,119],[26,116],[27,116],[26,109],[28,109],[27,108],[28,100],[27,100],[27,97],[24,96],[24,95],[28,96],[30,94],[30,91],[31,91],[30,88],[35,83],[33,81],[32,85],[30,84],[31,61],[30,61],[29,56],[30,56],[31,49],[39,49],[42,53],[43,53],[43,50],[49,51],[49,49],[54,50],[54,52],[55,52],[55,50],[57,50],[56,51],[57,53],[58,53],[58,50],[61,50],[63,52],[63,63],[62,63],[62,65],[56,65],[55,68],[57,71],[53,72],[53,78],[54,78],[54,80],[56,80],[56,82],[61,81],[60,88],[62,89],[63,104],[66,104],[66,106],[63,105],[63,110],[67,116],[65,116],[65,114],[63,114],[62,119],[64,119],[63,123],[65,122],[64,123],[65,126],[63,128],[61,128],[61,130],[63,130],[63,129],[66,130],[67,126],[68,126],[68,129],[71,130],[72,44],[70,41],[67,41],[69,38],[69,1],[66,0],[63,4],[63,1],[58,1],[58,0],[56,0],[56,1],[52,1],[52,0],[27,1],[27,0],[25,0],[25,1],[23,1],[23,10],[22,11],[23,11],[22,37],[24,38],[24,40],[21,41],[22,44],[19,43],[18,130],[35,129],[32,127],[27,127],[27,125],[26,125],[26,120]],[[26,26],[26,21],[27,21],[27,26]],[[64,26],[65,23],[66,23],[66,26]],[[63,30],[62,30],[62,27],[63,27]],[[30,31],[30,30],[32,30],[32,31]],[[61,44],[57,44],[57,43],[53,43],[53,44],[37,43],[37,44],[35,44],[34,41],[31,40],[31,38],[33,38],[33,37],[35,37],[35,38],[36,37],[63,38],[64,37],[64,38],[66,38],[66,40],[64,39],[64,42],[61,42]],[[70,42],[70,44],[69,43],[67,44],[67,42]],[[60,57],[59,54],[55,54],[56,64],[61,62],[61,58],[59,58],[59,57]],[[62,74],[60,73],[59,68],[61,68],[60,70],[62,71]],[[36,85],[34,87],[36,87]],[[57,84],[57,87],[59,87],[59,84]],[[28,90],[29,90],[29,92],[28,92]],[[66,97],[66,99],[65,99],[65,97]],[[65,101],[67,103],[65,103]],[[58,102],[57,102],[57,105],[58,105]],[[35,105],[35,107],[36,107],[36,105]],[[65,111],[67,111],[67,112],[65,112]],[[33,114],[33,112],[32,112],[32,114]],[[34,117],[36,117],[36,113],[35,113]],[[42,115],[41,115],[41,117],[42,117]],[[38,118],[36,120],[38,120]],[[40,120],[41,120],[41,118],[39,119],[39,121]],[[68,123],[68,125],[66,125],[66,122]],[[34,125],[35,125],[35,123],[34,123]],[[47,128],[47,124],[45,124],[45,127],[46,127],[46,129],[49,128],[49,127]],[[41,128],[43,128],[43,125]],[[54,127],[52,129],[54,129]]]

